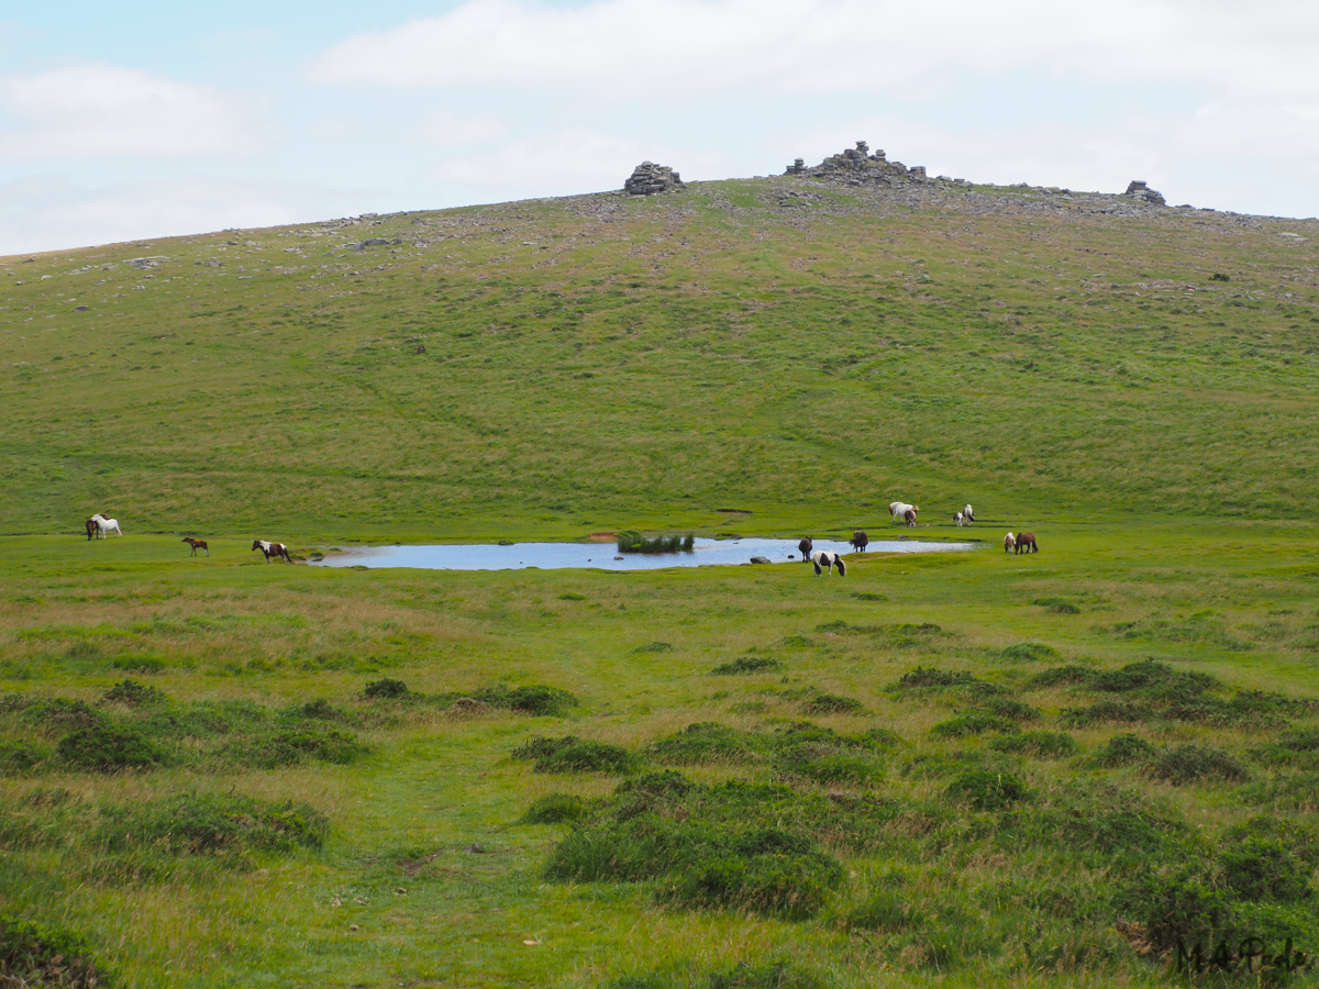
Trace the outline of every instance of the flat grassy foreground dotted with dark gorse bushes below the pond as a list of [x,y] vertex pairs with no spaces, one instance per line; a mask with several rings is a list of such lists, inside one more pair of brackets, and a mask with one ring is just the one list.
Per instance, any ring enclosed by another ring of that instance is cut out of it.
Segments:
[[843,579],[5,539],[8,909],[133,985],[1109,985],[1211,926],[1319,943],[1308,533]]

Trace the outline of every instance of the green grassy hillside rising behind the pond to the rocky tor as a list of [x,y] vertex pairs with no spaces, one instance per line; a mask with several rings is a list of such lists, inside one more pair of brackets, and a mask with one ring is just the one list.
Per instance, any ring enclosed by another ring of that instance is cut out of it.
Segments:
[[0,533],[1308,513],[1319,223],[1104,199],[781,177],[7,258]]

